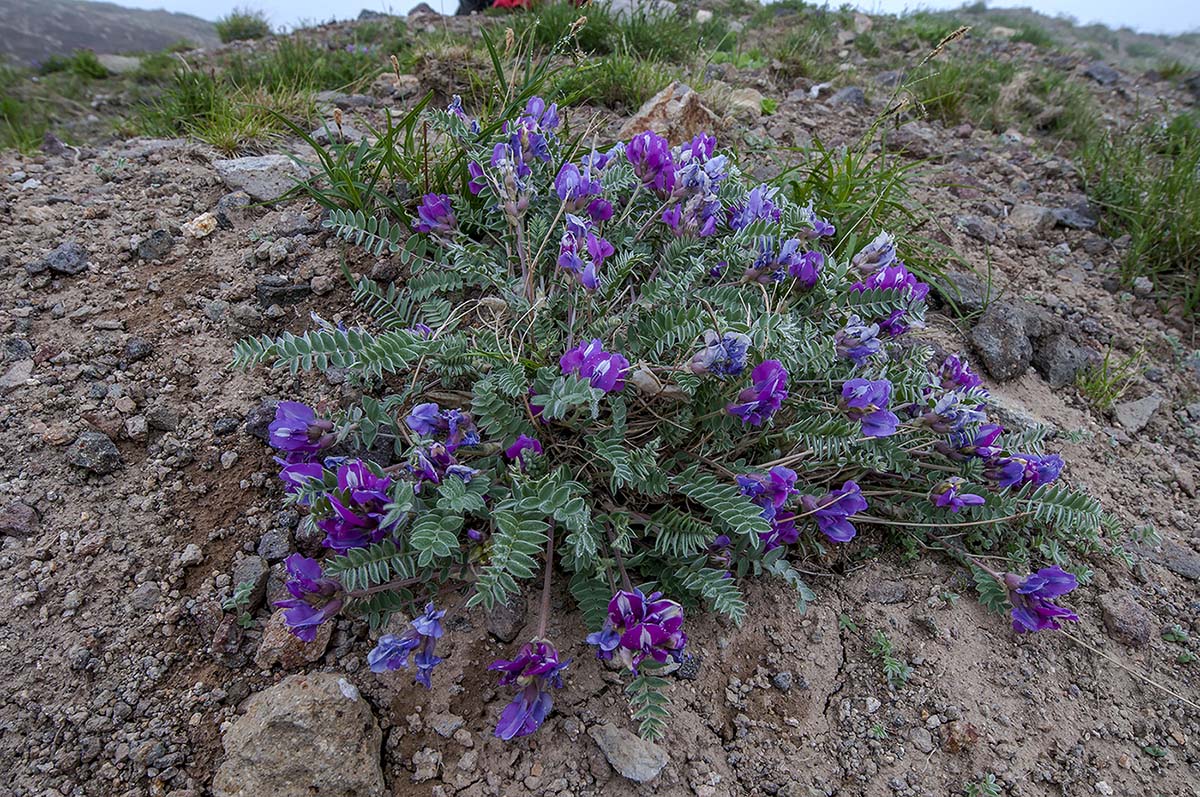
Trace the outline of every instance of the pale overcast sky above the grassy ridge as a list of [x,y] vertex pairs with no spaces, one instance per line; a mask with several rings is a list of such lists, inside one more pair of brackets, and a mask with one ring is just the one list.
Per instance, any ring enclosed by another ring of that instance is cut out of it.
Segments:
[[[31,0],[37,2],[37,0]],[[122,6],[184,11],[216,19],[234,6],[260,8],[275,25],[294,26],[300,22],[328,22],[356,17],[362,8],[404,13],[418,0],[115,0]],[[426,0],[443,13],[454,13],[458,0]],[[830,5],[840,5],[840,0]],[[866,12],[900,13],[916,8],[954,8],[962,0],[858,0],[851,5]],[[1152,34],[1181,34],[1200,30],[1200,0],[990,0],[989,7],[1034,6],[1048,14],[1070,14],[1080,23],[1100,22],[1110,28],[1128,26]]]

